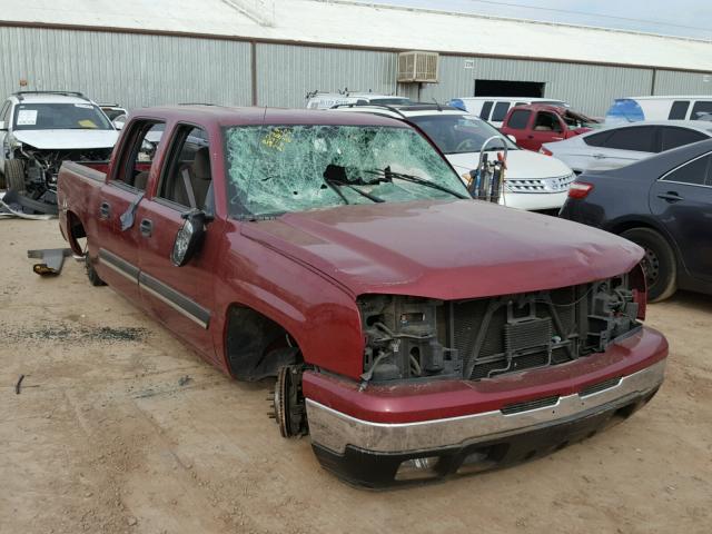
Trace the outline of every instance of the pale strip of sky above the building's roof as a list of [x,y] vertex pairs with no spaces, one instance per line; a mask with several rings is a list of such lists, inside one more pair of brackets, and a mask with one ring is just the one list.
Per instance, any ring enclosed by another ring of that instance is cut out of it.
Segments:
[[[390,3],[548,22],[619,28],[712,41],[712,0],[363,1],[364,3]],[[562,11],[576,11],[585,14]]]

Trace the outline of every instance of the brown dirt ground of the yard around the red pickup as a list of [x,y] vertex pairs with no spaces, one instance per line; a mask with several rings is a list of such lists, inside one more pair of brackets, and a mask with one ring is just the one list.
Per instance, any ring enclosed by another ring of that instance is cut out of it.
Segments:
[[[0,220],[0,533],[709,533],[712,299],[650,306],[665,384],[552,456],[414,488],[355,490],[230,380],[71,258],[56,221]],[[20,395],[14,384],[24,374]]]

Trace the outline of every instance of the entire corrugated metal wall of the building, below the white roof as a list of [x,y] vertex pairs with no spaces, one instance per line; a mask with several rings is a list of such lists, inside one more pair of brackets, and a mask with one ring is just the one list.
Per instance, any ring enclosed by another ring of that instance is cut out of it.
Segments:
[[[171,102],[251,102],[250,43],[102,31],[0,27],[0,98],[29,89],[81,90],[129,108]],[[545,96],[604,115],[622,96],[650,95],[651,69],[441,56],[437,85],[397,85],[397,55],[256,44],[260,106],[304,107],[319,89],[373,90],[444,102],[472,96],[476,79],[545,82]],[[712,95],[703,75],[659,70],[655,93]]]

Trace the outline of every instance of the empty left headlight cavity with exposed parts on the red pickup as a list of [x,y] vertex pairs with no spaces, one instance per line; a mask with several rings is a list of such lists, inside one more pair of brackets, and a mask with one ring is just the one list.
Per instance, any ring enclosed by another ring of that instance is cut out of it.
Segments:
[[357,300],[364,332],[365,382],[459,376],[462,360],[446,344],[442,300],[365,295]]

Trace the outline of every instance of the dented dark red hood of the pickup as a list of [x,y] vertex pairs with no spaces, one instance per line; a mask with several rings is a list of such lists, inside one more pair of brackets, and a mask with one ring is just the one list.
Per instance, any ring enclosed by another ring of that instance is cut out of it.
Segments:
[[354,296],[551,289],[627,273],[643,256],[612,234],[477,200],[343,206],[244,222],[240,233]]

